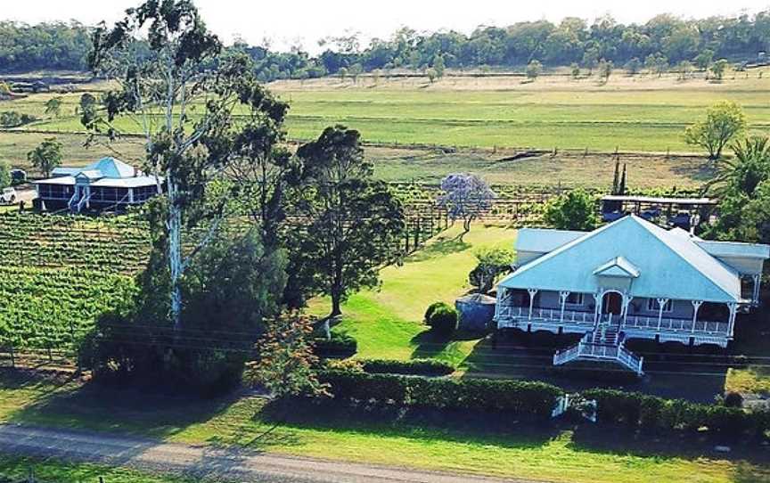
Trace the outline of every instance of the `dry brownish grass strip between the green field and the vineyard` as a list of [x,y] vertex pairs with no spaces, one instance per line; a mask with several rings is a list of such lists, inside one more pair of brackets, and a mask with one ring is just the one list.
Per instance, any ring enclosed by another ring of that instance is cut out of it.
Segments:
[[[23,131],[0,133],[0,160],[13,168],[27,169],[30,176],[39,176],[27,161],[27,152],[46,137],[55,137],[63,144],[63,164],[84,166],[106,155],[141,166],[143,143],[139,139],[122,138],[111,143],[86,147],[86,135],[41,134]],[[612,184],[615,160],[610,154],[559,152],[544,153],[520,160],[505,160],[512,150],[463,149],[445,152],[440,149],[386,148],[367,146],[366,156],[373,160],[375,176],[385,181],[418,181],[438,183],[456,172],[471,172],[492,184],[522,186],[586,186],[608,187]],[[702,185],[714,173],[708,160],[700,157],[671,157],[665,155],[624,154],[620,160],[627,164],[628,183],[632,189],[694,188]]]

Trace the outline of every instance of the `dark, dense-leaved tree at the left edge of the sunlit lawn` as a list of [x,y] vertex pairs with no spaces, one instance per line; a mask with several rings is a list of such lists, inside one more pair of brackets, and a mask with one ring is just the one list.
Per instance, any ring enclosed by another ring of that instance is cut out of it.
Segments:
[[295,269],[314,274],[307,281],[332,298],[331,316],[340,315],[351,291],[379,282],[389,242],[404,230],[404,210],[387,184],[373,180],[357,131],[328,127],[297,156],[307,183],[296,209],[312,235],[295,237],[304,258]]

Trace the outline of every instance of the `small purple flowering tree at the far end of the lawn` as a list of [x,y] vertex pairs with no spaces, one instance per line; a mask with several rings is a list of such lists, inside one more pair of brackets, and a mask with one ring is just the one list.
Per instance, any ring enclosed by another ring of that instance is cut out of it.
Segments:
[[469,173],[446,176],[441,181],[441,190],[444,194],[438,198],[438,203],[446,208],[453,223],[463,220],[461,241],[471,231],[473,220],[491,208],[492,200],[497,196],[483,179]]

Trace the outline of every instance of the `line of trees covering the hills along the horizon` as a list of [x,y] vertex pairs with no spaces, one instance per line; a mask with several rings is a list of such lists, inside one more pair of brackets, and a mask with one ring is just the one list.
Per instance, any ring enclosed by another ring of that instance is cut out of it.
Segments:
[[[27,25],[0,22],[0,66],[6,71],[86,70],[92,28],[78,22]],[[659,70],[680,62],[707,69],[711,61],[754,61],[770,48],[770,11],[751,16],[685,20],[669,14],[643,24],[618,23],[611,16],[593,22],[568,17],[561,22],[523,21],[508,27],[479,26],[471,35],[457,31],[397,30],[389,39],[362,46],[357,35],[319,41],[316,56],[297,46],[276,52],[269,45],[236,39],[228,48],[248,53],[260,81],[283,78],[355,78],[389,70],[517,69],[538,61],[545,66],[577,65],[593,70],[603,61],[629,71]]]

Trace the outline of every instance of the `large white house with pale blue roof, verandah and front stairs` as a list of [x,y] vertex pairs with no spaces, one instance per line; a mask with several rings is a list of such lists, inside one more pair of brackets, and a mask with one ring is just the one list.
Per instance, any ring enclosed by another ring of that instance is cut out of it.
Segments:
[[642,374],[626,340],[716,344],[759,303],[770,246],[704,241],[634,215],[594,232],[520,230],[517,269],[497,285],[498,329],[585,334],[553,364],[611,361]]

